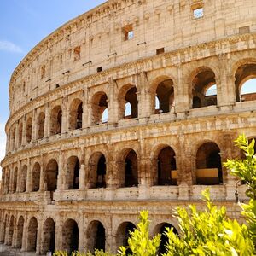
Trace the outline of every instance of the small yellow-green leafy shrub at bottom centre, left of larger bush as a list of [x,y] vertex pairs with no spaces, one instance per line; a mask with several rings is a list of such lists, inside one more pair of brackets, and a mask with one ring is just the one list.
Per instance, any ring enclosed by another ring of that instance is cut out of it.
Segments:
[[[134,256],[154,256],[160,247],[160,234],[149,238],[149,220],[148,212],[140,212],[140,222],[137,224],[137,229],[130,231],[131,237],[128,239],[128,247],[119,247],[120,255],[127,255],[127,249],[130,248],[131,255]],[[130,254],[128,254],[130,255]]]

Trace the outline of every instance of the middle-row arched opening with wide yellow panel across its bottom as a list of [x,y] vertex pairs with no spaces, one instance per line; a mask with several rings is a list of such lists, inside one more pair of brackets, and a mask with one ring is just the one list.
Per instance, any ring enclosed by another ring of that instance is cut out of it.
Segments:
[[196,182],[214,185],[223,182],[220,150],[216,143],[204,143],[196,154]]

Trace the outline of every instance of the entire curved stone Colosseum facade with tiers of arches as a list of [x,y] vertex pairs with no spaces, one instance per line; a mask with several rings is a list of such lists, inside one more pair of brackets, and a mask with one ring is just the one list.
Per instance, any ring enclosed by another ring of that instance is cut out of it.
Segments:
[[152,236],[179,232],[172,211],[203,207],[207,186],[241,219],[244,185],[222,163],[239,134],[256,137],[242,90],[255,13],[251,0],[108,0],[35,46],[9,83],[0,241],[115,253],[143,209]]

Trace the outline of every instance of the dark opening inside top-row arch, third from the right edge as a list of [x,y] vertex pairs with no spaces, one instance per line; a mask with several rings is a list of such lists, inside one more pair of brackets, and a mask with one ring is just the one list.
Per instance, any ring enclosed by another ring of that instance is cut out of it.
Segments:
[[[168,113],[174,108],[174,89],[172,79],[166,79],[157,85],[155,99],[158,99],[159,108],[155,108],[155,113]],[[155,107],[157,103],[155,101]]]

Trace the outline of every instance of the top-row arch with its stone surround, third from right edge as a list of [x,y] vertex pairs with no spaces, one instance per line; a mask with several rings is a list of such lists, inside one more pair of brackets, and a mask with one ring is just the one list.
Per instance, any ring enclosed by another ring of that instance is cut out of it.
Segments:
[[[174,111],[174,83],[170,76],[155,78],[150,86],[151,113],[168,113]],[[159,102],[159,108],[156,104]]]

